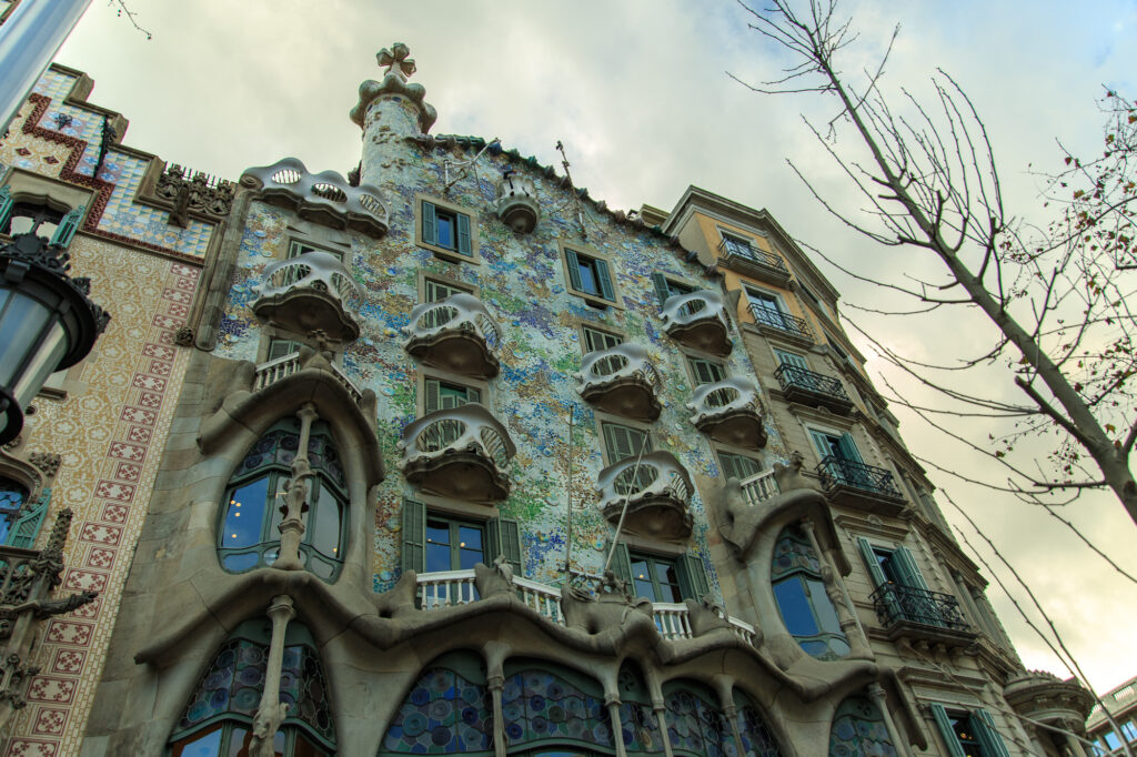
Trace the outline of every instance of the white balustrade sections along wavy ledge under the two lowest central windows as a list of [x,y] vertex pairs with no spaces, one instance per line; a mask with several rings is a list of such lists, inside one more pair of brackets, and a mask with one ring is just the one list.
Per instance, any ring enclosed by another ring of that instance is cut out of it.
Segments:
[[[473,571],[446,571],[441,573],[421,573],[417,576],[418,602],[424,610],[441,607],[457,607],[476,602],[480,597],[474,587]],[[530,579],[513,577],[513,588],[526,607],[550,623],[564,625],[564,612],[561,608],[561,590]],[[680,602],[653,602],[655,627],[664,639],[691,639],[694,632],[688,618],[687,605]],[[737,617],[721,614],[730,623],[731,631],[742,641],[753,644],[754,626]]]

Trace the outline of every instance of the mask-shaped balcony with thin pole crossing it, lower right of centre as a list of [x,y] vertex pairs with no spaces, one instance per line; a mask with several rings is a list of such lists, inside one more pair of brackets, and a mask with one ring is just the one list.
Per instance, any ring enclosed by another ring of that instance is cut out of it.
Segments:
[[630,457],[600,471],[600,510],[611,523],[655,539],[686,539],[691,533],[691,479],[671,452],[650,452],[637,465]]

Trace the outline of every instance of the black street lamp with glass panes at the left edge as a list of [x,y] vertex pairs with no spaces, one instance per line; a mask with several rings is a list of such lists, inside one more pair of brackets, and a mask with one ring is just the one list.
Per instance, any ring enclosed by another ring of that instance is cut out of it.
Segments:
[[0,247],[0,444],[19,435],[48,376],[85,358],[110,321],[68,259],[34,233]]

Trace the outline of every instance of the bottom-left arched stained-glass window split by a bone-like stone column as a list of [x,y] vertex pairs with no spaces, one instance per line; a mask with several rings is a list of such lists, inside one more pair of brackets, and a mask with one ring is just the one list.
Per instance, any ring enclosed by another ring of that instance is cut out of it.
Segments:
[[[247,755],[268,662],[267,618],[239,625],[198,683],[169,740],[171,757]],[[288,717],[273,748],[280,757],[331,757],[335,727],[316,644],[304,625],[289,623],[280,701]]]

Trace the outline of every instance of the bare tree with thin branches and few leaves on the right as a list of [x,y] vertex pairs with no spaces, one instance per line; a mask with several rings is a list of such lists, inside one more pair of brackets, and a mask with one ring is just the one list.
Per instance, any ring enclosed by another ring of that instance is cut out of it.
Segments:
[[[948,400],[941,407],[910,407],[948,433],[947,416],[1011,424],[1010,432],[982,440],[953,433],[1007,471],[1006,483],[982,483],[1046,505],[1110,489],[1137,522],[1130,468],[1137,363],[1134,314],[1127,305],[1134,283],[1127,271],[1137,264],[1137,111],[1107,97],[1111,123],[1102,157],[1084,161],[1067,153],[1059,170],[1046,177],[1047,213],[1056,210],[1054,221],[1016,224],[1004,207],[987,131],[963,90],[938,72],[931,102],[903,92],[901,110],[890,108],[880,80],[891,43],[874,69],[846,76],[838,57],[857,34],[839,15],[838,2],[771,0],[756,10],[740,0],[753,16],[750,27],[794,59],[775,81],[742,83],[762,93],[836,99],[837,115],[823,128],[810,128],[864,207],[846,213],[830,205],[791,167],[845,224],[880,244],[938,259],[946,277],[883,282],[827,257],[830,263],[914,298],[919,305],[908,314],[964,307],[986,316],[987,348],[951,364],[918,363],[874,342],[886,359]],[[977,396],[951,380],[999,364],[1021,400]],[[1026,438],[1053,441],[1049,464],[1016,461],[1015,446]]]

